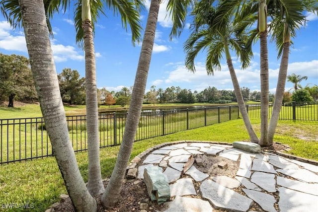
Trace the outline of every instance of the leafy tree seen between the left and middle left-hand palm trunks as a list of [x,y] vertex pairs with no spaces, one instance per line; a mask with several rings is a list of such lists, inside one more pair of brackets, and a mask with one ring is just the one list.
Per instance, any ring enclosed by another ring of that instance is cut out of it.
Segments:
[[79,71],[65,68],[58,74],[61,96],[64,102],[71,105],[82,104],[85,101],[85,77],[79,76]]

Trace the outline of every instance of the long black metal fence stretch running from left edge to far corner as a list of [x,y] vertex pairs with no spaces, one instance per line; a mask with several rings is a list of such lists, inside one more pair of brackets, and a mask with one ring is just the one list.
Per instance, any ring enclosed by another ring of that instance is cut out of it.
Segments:
[[[127,113],[99,115],[99,146],[119,145]],[[135,141],[239,118],[238,106],[142,112]],[[75,151],[87,150],[86,116],[67,116]],[[43,118],[0,119],[0,164],[52,155]]]

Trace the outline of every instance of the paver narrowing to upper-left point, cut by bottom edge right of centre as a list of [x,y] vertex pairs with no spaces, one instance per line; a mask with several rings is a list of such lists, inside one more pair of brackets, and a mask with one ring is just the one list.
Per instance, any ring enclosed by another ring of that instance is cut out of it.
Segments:
[[258,192],[254,190],[242,189],[244,193],[255,201],[264,211],[267,212],[276,212],[274,208],[274,203],[276,203],[275,198],[272,195],[265,194],[263,192]]

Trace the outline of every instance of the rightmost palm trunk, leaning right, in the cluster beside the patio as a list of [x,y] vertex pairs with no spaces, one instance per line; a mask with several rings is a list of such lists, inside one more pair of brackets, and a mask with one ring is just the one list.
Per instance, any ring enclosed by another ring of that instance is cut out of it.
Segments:
[[273,144],[274,134],[275,134],[276,126],[279,119],[279,113],[282,108],[286,77],[287,77],[289,47],[290,47],[290,31],[287,26],[287,23],[285,23],[283,42],[284,42],[283,54],[282,54],[282,59],[280,62],[280,68],[278,72],[275,101],[273,105],[272,116],[270,118],[270,122],[268,126],[268,142],[270,145]]

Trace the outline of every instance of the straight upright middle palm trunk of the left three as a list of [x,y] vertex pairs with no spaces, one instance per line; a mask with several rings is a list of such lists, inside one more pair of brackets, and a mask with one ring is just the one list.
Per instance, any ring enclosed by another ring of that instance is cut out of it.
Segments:
[[89,0],[82,0],[81,11],[85,51],[86,123],[88,149],[87,189],[92,196],[96,196],[104,192],[104,185],[101,179],[99,161],[96,65]]

